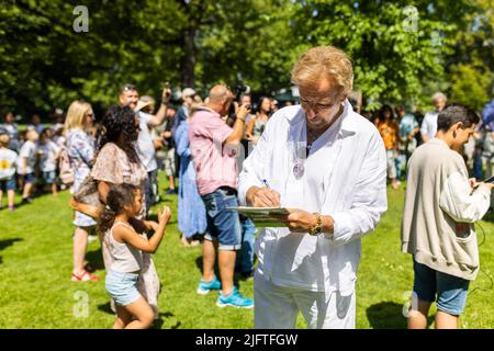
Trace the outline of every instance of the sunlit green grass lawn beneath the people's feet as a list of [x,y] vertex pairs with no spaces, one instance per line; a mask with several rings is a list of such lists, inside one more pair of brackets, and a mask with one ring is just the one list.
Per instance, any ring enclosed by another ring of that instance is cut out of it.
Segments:
[[[83,283],[70,281],[72,212],[68,206],[69,197],[68,192],[61,192],[58,197],[44,195],[13,213],[0,211],[0,328],[112,326],[114,317],[104,279]],[[167,195],[159,205],[164,204],[172,208],[173,217],[155,254],[162,284],[160,318],[155,327],[251,328],[252,310],[221,309],[215,306],[217,294],[195,294],[201,276],[201,248],[179,245],[177,196]],[[375,233],[362,239],[357,328],[406,326],[402,309],[412,290],[413,272],[411,257],[400,252],[402,206],[403,190],[389,190],[389,211]],[[156,213],[156,207],[154,211]],[[481,272],[470,285],[471,294],[460,322],[462,328],[494,327],[494,290],[487,276],[494,271],[494,216],[490,217],[490,222],[481,223],[485,242],[480,252],[485,273]],[[482,230],[478,228],[478,233],[482,242]],[[98,241],[89,245],[87,259],[102,268]],[[104,278],[102,270],[97,274]],[[237,279],[237,283],[242,293],[252,296],[251,279]],[[297,327],[304,326],[299,317]]]

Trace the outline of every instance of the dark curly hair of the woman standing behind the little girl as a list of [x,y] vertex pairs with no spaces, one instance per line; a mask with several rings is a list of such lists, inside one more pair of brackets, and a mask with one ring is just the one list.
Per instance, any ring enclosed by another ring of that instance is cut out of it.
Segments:
[[128,106],[113,105],[108,109],[98,128],[98,152],[108,143],[116,144],[121,135],[125,140],[122,149],[133,163],[138,163],[136,140],[139,127],[135,122],[135,113]]

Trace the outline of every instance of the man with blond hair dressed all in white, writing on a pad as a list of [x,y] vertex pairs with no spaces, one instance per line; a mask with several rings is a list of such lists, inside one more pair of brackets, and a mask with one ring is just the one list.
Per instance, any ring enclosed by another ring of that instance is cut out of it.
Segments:
[[352,80],[344,52],[303,54],[301,105],[278,111],[244,162],[240,202],[290,208],[256,242],[256,328],[294,328],[299,312],[310,328],[355,328],[360,238],[388,203],[384,145],[347,100]]

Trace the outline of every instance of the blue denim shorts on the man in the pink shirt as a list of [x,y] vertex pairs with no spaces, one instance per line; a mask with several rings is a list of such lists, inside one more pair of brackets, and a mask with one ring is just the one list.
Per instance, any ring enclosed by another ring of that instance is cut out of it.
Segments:
[[238,212],[226,210],[238,206],[237,192],[231,188],[218,188],[202,196],[206,208],[207,234],[204,239],[218,241],[220,250],[242,248],[242,227]]

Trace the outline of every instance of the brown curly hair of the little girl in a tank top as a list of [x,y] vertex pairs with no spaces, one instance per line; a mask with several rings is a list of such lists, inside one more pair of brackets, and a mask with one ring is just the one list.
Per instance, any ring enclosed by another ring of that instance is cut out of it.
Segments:
[[100,226],[98,230],[100,236],[104,238],[105,233],[115,223],[115,217],[123,214],[125,206],[132,206],[135,200],[137,186],[131,184],[114,184],[110,188],[106,195],[106,206],[104,206],[100,216]]

